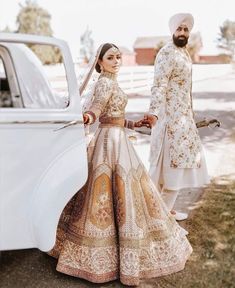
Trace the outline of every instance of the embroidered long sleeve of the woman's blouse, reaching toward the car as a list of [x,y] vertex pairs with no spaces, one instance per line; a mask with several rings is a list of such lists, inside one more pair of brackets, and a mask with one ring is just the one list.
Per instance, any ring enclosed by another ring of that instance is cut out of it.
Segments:
[[107,105],[113,91],[113,82],[112,80],[103,77],[98,80],[95,86],[94,98],[92,104],[89,108],[89,111],[85,113],[92,112],[97,119],[100,114],[103,112],[105,106]]

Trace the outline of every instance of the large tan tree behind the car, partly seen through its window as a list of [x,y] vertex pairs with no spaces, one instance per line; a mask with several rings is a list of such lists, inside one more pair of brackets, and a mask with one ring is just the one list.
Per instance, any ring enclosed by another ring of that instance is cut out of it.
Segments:
[[[53,36],[51,29],[51,15],[39,7],[36,1],[26,0],[25,5],[20,4],[20,12],[17,16],[18,33]],[[57,47],[48,45],[28,45],[38,56],[43,64],[55,64],[62,62],[62,55]]]

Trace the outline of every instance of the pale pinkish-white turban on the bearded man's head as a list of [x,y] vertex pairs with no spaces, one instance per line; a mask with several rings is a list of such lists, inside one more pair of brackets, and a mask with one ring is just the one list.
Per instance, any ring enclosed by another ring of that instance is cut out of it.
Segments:
[[173,35],[177,28],[182,24],[185,24],[190,32],[193,29],[194,24],[193,16],[190,13],[178,13],[173,15],[169,20],[171,35]]

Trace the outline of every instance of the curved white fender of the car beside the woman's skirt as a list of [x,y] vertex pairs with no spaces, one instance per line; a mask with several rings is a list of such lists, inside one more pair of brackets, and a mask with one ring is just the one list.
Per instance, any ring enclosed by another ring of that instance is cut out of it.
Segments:
[[85,139],[81,141],[83,145],[78,142],[57,156],[33,191],[29,210],[31,233],[36,247],[42,251],[53,248],[60,215],[87,180],[87,154],[81,149]]

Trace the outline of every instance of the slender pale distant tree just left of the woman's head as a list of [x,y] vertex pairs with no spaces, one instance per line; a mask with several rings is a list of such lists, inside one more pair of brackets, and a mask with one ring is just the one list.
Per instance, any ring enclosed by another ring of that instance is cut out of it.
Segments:
[[80,55],[85,63],[94,55],[94,40],[91,37],[92,31],[87,27],[86,31],[80,37]]

